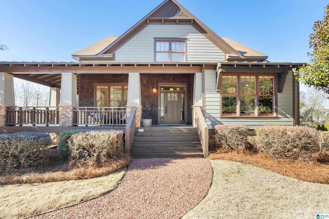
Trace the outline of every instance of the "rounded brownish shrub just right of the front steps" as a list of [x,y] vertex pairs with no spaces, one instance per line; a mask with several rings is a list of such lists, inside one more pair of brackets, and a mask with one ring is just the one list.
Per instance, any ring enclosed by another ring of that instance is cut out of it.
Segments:
[[216,125],[216,145],[230,151],[245,150],[248,138],[248,126]]

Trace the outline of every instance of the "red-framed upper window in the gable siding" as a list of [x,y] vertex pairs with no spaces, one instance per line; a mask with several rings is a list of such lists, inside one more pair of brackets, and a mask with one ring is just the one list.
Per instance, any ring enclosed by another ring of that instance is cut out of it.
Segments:
[[155,62],[185,62],[185,41],[156,40]]

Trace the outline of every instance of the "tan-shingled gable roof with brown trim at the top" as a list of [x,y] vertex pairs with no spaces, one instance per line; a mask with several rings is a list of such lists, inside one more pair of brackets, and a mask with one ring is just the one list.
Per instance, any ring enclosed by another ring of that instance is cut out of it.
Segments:
[[221,38],[204,23],[199,21],[199,19],[191,12],[182,7],[176,0],[163,1],[121,36],[106,37],[105,39],[72,54],[72,57],[78,61],[80,57],[106,56],[112,58],[113,54],[119,47],[129,41],[129,39],[142,30],[143,27],[147,26],[150,21],[159,20],[163,23],[164,19],[175,19],[177,22],[180,19],[190,21],[199,32],[203,33],[214,45],[227,55],[227,61],[264,61],[267,58],[267,55],[263,53],[252,50],[246,46],[231,41],[228,38]]

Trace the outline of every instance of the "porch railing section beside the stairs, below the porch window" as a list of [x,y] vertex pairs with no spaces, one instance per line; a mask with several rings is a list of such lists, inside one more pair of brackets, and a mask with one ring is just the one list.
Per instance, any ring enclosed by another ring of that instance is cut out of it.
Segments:
[[125,126],[126,107],[74,107],[73,125]]

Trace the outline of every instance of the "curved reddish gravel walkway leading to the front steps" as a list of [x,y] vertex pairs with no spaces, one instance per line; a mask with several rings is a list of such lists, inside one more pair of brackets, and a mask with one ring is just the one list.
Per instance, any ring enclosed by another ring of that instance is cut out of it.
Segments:
[[205,158],[133,159],[112,192],[33,218],[180,218],[204,198],[211,180]]

